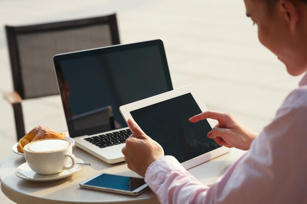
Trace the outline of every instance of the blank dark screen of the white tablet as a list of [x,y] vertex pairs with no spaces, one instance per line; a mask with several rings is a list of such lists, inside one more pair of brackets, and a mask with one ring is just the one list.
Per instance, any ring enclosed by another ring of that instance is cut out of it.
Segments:
[[153,104],[130,114],[141,129],[180,163],[220,147],[207,137],[207,120],[192,123],[188,119],[201,113],[191,93]]

